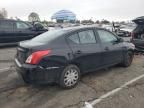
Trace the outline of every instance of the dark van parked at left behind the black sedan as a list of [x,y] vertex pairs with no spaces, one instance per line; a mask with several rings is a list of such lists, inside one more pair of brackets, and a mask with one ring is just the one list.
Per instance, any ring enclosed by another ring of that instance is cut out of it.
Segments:
[[16,42],[31,39],[47,30],[36,24],[17,20],[0,20],[0,45],[15,44]]

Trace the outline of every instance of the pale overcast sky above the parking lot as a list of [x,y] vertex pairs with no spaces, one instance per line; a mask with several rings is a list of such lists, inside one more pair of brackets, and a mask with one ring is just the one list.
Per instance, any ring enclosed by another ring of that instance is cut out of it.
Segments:
[[70,10],[78,20],[92,19],[127,21],[144,16],[144,0],[0,0],[0,9],[5,8],[9,17],[28,20],[31,12],[41,20],[51,20],[59,10]]

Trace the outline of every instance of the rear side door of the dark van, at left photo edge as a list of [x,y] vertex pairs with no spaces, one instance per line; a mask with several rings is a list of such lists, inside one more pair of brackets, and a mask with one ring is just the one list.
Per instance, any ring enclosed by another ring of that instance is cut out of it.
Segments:
[[13,21],[1,20],[0,21],[0,43],[14,42],[14,29]]

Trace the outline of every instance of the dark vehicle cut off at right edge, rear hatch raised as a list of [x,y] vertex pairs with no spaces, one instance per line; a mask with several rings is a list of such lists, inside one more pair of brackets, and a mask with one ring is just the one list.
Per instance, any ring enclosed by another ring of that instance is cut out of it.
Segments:
[[136,52],[144,52],[144,16],[133,20],[137,27],[132,32],[132,42],[135,44]]

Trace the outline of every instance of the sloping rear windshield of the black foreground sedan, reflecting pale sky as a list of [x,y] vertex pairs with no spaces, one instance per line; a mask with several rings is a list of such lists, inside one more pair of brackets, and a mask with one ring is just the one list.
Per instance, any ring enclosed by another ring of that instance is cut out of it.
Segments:
[[66,31],[64,30],[52,30],[52,31],[48,31],[43,34],[40,34],[39,36],[33,38],[31,41],[39,42],[39,43],[48,43],[65,33]]

